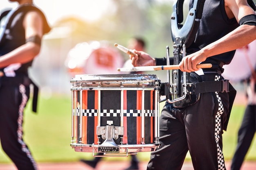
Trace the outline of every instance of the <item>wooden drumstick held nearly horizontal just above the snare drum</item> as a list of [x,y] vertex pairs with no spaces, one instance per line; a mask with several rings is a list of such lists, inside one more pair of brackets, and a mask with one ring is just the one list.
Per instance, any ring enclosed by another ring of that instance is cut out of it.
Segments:
[[[211,68],[212,64],[198,64],[197,68]],[[117,68],[119,72],[140,72],[140,71],[155,71],[155,70],[178,70],[179,65],[157,65],[157,66],[139,66],[132,68]]]

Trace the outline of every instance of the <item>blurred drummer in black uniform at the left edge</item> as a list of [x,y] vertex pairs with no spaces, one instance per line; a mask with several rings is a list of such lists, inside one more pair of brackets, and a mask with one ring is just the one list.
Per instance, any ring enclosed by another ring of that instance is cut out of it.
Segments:
[[[28,68],[40,52],[43,35],[51,28],[33,0],[9,2],[16,2],[18,7],[0,15],[1,26],[4,26],[0,29],[1,145],[18,170],[36,170],[36,162],[23,140],[23,114],[30,96],[29,86],[33,84]],[[35,89],[34,85],[34,92]]]

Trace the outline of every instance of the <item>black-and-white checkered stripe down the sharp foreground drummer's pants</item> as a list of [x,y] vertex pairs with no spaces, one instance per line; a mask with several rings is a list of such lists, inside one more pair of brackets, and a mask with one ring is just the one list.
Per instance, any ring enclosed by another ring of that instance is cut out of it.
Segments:
[[[215,76],[215,81],[220,81],[220,76]],[[224,112],[224,107],[222,105],[221,98],[218,92],[215,92],[217,100],[218,100],[218,111],[215,116],[215,141],[217,144],[217,155],[218,155],[218,170],[225,170],[225,163],[222,150],[219,145],[220,140],[220,131],[221,131],[221,115]]]

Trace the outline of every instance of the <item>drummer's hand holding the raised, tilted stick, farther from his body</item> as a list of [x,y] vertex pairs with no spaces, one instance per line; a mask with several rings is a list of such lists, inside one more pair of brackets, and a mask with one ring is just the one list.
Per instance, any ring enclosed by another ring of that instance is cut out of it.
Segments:
[[136,55],[133,57],[129,55],[130,59],[132,60],[132,65],[135,67],[138,66],[150,66],[150,65],[155,65],[155,59],[150,57],[149,54],[143,51],[136,51],[133,50],[133,52],[136,53]]

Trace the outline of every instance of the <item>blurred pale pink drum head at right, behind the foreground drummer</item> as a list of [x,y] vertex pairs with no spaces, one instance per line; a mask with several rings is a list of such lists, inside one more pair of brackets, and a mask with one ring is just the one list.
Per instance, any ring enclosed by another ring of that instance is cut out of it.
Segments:
[[248,48],[236,50],[233,60],[223,65],[222,76],[233,83],[238,83],[251,75],[251,69],[256,68],[256,40],[248,44]]

